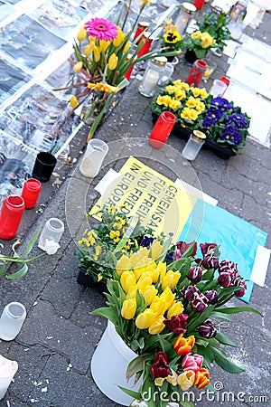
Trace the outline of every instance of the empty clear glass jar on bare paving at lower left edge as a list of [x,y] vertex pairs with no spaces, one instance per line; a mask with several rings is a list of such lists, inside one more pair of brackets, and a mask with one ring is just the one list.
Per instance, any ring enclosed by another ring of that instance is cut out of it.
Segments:
[[26,317],[26,309],[20,302],[7,304],[0,318],[0,338],[12,341],[20,332]]

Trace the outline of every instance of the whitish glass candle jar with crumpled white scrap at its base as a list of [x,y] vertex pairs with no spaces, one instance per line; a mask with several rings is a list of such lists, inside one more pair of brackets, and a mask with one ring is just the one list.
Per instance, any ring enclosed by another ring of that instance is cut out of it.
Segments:
[[59,243],[64,232],[64,223],[58,218],[49,219],[40,234],[38,246],[42,251],[47,251],[48,245],[51,243]]

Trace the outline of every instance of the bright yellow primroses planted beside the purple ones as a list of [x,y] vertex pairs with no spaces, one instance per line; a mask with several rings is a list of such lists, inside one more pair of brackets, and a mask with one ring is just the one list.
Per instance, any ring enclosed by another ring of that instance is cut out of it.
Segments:
[[205,88],[189,86],[182,80],[170,81],[151,103],[156,115],[170,111],[182,128],[201,129],[203,113],[210,107],[212,96]]

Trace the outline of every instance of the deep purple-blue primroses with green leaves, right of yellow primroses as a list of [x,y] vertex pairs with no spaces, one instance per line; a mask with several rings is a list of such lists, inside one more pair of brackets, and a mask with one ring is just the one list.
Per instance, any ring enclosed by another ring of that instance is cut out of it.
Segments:
[[224,98],[212,99],[210,109],[202,122],[202,131],[221,147],[238,153],[246,145],[250,118]]

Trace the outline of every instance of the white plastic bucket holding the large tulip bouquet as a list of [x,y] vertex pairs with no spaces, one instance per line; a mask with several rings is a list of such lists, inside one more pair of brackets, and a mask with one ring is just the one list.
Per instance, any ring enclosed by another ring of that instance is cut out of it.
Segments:
[[126,368],[136,356],[108,321],[107,329],[92,356],[91,374],[99,390],[118,404],[129,406],[133,402],[133,398],[118,386],[137,392],[142,384],[139,380],[134,385],[134,377],[126,382]]

